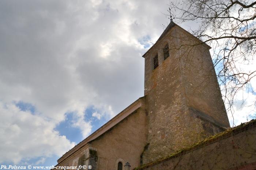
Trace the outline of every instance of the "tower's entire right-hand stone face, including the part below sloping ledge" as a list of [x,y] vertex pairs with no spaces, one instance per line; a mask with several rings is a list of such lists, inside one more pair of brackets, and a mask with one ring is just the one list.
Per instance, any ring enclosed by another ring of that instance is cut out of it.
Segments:
[[[178,31],[178,53],[185,87],[185,140],[196,142],[230,127],[208,46],[185,30]],[[189,143],[188,143],[189,144]]]

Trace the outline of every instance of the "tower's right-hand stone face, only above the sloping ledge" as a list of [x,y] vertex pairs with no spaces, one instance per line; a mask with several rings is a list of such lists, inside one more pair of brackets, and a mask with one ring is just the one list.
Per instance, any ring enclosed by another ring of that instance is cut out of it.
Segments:
[[178,37],[186,106],[211,116],[222,127],[230,127],[209,47],[184,30]]

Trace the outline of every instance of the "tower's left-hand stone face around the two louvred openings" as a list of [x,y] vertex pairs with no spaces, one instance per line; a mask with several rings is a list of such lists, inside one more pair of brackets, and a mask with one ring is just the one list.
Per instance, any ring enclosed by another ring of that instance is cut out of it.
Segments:
[[[172,32],[176,36],[176,30]],[[169,49],[176,40],[167,35],[145,56],[145,89],[149,131],[147,150],[143,163],[164,157],[179,149],[187,126],[184,117],[184,87],[182,85],[181,65],[178,53],[170,50],[170,56],[163,60],[163,48]],[[153,57],[158,54],[159,66],[153,69]]]

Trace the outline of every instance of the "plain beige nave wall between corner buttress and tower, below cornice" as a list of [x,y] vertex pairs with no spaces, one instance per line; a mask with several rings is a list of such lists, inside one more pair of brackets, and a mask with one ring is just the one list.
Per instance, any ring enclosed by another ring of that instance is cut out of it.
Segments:
[[146,106],[143,102],[143,105],[127,118],[91,141],[91,146],[97,149],[97,169],[114,170],[117,169],[118,162],[122,162],[123,166],[129,162],[131,169],[139,166],[140,156],[147,143],[147,121]]

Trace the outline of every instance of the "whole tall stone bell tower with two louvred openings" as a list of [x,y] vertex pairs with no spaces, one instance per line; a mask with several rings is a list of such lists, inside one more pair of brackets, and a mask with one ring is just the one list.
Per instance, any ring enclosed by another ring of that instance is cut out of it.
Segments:
[[208,45],[172,20],[145,58],[143,163],[230,127]]

